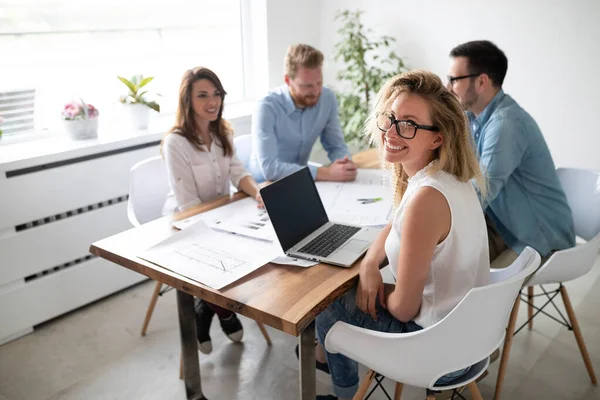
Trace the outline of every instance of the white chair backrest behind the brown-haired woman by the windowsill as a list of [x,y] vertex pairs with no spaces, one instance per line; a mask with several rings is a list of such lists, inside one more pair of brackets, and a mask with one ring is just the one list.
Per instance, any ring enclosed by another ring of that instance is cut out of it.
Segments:
[[161,156],[150,157],[131,167],[127,203],[129,221],[139,226],[160,218],[169,190],[167,170]]

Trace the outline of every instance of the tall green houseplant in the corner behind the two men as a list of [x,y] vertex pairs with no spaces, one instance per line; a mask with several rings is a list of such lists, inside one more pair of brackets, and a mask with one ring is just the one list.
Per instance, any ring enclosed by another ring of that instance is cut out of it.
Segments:
[[[340,123],[346,142],[364,146],[368,139],[362,136],[363,125],[375,95],[392,76],[405,71],[404,62],[390,51],[395,39],[391,36],[369,37],[360,20],[362,11],[340,11],[335,19],[340,40],[335,44],[334,60],[343,66],[337,79],[344,90],[336,91]],[[387,53],[387,54],[386,54]]]

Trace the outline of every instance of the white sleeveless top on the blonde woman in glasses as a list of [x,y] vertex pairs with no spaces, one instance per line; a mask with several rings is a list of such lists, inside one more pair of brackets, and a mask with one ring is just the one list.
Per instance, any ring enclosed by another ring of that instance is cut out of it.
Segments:
[[400,236],[404,211],[415,192],[424,186],[437,189],[450,206],[451,227],[433,252],[423,290],[421,308],[414,321],[423,328],[442,320],[474,287],[489,282],[490,261],[487,228],[481,204],[471,182],[459,182],[454,175],[427,170],[432,161],[409,179],[396,210],[392,229],[385,241],[385,252],[394,278],[398,268]]

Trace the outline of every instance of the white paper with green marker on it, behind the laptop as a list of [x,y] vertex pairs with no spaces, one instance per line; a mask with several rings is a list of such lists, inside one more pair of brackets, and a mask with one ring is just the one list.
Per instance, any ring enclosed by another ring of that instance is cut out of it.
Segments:
[[[383,184],[385,174],[376,169],[359,169],[354,182],[316,182],[329,219],[360,226],[387,224],[393,193]],[[367,199],[371,202],[361,201]]]

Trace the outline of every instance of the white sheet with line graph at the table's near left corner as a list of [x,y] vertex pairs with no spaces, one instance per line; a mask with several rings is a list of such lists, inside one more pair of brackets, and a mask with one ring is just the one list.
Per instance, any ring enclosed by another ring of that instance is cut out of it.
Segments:
[[198,222],[152,246],[139,257],[214,289],[221,289],[281,253],[277,242],[215,231]]

